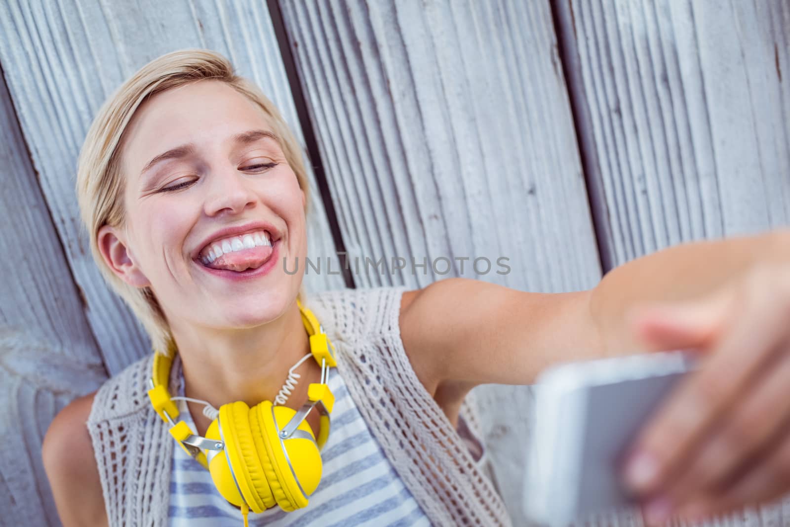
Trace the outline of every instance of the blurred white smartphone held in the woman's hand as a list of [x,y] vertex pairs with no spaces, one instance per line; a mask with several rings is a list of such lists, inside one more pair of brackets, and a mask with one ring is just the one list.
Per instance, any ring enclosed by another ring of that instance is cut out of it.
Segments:
[[568,525],[638,502],[623,486],[627,449],[661,400],[696,369],[693,352],[563,363],[536,380],[524,509],[542,525]]

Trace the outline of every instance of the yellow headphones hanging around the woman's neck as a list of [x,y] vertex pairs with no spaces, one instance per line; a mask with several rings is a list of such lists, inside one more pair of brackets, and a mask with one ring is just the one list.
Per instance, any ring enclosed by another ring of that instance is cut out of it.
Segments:
[[[236,401],[220,407],[205,437],[194,435],[184,421],[176,422],[179,410],[167,393],[175,344],[171,343],[169,357],[156,353],[153,359],[148,394],[154,410],[170,424],[171,435],[186,453],[209,469],[224,499],[241,507],[245,525],[250,509],[260,513],[279,505],[290,512],[307,506],[307,496],[321,480],[320,452],[329,437],[329,413],[335,400],[326,376],[337,361],[334,345],[318,319],[298,299],[296,303],[310,336],[310,352],[321,365],[321,382],[310,384],[308,401],[299,411],[274,406],[271,401],[253,408]],[[321,416],[318,439],[305,421],[313,408]]]

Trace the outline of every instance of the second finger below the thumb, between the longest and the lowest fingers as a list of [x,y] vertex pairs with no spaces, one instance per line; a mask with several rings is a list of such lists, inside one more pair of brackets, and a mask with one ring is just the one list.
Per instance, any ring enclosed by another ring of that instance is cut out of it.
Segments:
[[754,392],[713,431],[672,484],[669,495],[673,503],[682,503],[693,493],[716,491],[782,432],[783,423],[790,419],[788,348],[776,359],[766,365]]

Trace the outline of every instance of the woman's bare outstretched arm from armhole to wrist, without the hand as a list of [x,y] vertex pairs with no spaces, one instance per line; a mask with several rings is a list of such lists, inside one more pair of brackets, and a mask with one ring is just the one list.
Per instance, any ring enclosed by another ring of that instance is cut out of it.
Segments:
[[669,247],[612,269],[588,291],[439,280],[404,293],[401,336],[432,393],[450,384],[459,394],[489,382],[529,384],[552,363],[643,351],[631,310],[698,298],[766,262],[790,265],[790,229]]

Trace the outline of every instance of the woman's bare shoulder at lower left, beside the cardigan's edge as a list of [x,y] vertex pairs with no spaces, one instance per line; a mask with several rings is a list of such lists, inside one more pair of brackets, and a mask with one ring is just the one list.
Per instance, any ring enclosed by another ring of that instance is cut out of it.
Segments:
[[87,421],[96,392],[72,401],[44,436],[42,457],[58,515],[70,525],[107,525],[99,471]]

